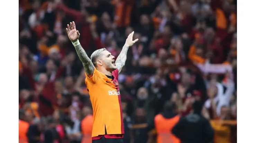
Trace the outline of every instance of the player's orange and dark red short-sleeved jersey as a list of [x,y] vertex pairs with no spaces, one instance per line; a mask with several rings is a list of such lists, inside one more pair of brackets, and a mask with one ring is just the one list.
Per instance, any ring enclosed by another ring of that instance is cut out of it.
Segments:
[[[86,75],[86,73],[85,73]],[[111,78],[94,67],[93,76],[86,75],[87,86],[93,108],[92,137],[107,134],[124,134],[121,98],[118,84],[118,69]]]

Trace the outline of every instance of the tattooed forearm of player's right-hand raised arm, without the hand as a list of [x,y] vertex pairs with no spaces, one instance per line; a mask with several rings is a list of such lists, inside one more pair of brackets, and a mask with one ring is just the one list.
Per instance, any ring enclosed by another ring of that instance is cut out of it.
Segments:
[[123,46],[121,53],[117,57],[116,67],[118,68],[118,73],[120,73],[122,67],[125,65],[125,61],[126,61],[126,58],[127,58],[126,55],[127,55],[128,49],[129,49],[128,46]]

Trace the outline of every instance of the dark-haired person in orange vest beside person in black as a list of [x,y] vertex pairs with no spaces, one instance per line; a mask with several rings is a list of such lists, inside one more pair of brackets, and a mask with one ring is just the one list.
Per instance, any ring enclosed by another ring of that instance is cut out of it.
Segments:
[[164,112],[155,116],[157,143],[180,143],[180,140],[171,133],[173,126],[180,120],[180,115],[174,111],[175,103],[167,101],[164,104]]

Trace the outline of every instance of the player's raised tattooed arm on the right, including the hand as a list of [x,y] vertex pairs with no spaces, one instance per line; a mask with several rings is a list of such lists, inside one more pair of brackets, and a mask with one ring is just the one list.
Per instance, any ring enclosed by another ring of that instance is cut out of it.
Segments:
[[121,53],[119,54],[119,56],[117,57],[116,60],[116,67],[118,68],[118,72],[120,73],[122,67],[125,65],[125,61],[127,58],[127,51],[129,49],[130,46],[132,46],[135,42],[137,42],[139,39],[136,39],[134,41],[132,41],[132,36],[134,34],[134,31],[132,31],[129,36],[126,39],[125,45],[122,48]]

